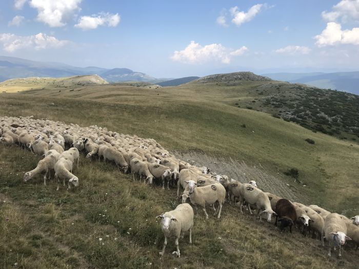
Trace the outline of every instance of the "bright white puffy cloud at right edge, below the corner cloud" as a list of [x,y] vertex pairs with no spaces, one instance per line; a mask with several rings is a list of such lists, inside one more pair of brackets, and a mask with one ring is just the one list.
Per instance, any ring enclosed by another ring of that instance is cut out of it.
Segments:
[[327,23],[327,27],[320,35],[314,36],[315,45],[318,47],[333,46],[336,44],[359,45],[359,28],[352,30],[342,30],[342,26],[337,23]]

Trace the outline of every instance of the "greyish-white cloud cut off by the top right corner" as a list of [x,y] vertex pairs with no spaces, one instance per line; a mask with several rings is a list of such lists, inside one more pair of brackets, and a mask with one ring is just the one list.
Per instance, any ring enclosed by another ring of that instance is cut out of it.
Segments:
[[322,17],[327,22],[335,22],[338,18],[341,18],[343,23],[359,20],[359,0],[342,0],[333,6],[332,10],[322,12]]

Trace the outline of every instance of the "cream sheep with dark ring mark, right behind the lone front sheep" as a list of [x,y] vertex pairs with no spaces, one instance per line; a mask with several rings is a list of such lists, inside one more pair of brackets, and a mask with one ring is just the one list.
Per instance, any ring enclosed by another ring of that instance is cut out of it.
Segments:
[[[222,205],[226,198],[226,189],[220,183],[214,183],[212,185],[207,185],[205,187],[194,188],[196,182],[193,180],[187,181],[189,185],[189,199],[191,203],[195,206],[200,205],[202,210],[206,214],[206,219],[208,219],[208,214],[206,211],[206,205],[213,205],[214,216],[217,215],[217,218],[221,218]],[[217,210],[214,208],[214,204],[218,203]]]

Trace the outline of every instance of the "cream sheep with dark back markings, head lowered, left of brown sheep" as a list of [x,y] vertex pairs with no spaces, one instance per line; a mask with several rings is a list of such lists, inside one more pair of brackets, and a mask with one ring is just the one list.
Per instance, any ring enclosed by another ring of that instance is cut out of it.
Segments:
[[[272,210],[270,206],[270,201],[268,196],[262,192],[260,189],[255,188],[252,184],[244,183],[240,187],[240,203],[243,203],[243,199],[246,200],[248,205],[255,204],[257,207],[257,218],[259,217],[262,221],[262,214],[267,214],[267,221],[271,221],[272,215],[276,213]],[[261,210],[263,210],[261,212]],[[240,204],[240,211],[242,212],[242,206]],[[250,211],[250,208],[249,208]],[[250,211],[251,212],[251,211]]]

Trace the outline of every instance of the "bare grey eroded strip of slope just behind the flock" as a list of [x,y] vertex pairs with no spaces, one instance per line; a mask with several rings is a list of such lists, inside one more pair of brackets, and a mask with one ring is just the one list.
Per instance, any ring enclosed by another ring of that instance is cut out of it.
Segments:
[[260,167],[255,165],[250,167],[243,160],[213,157],[197,152],[172,152],[172,154],[197,167],[209,167],[217,174],[227,175],[229,178],[236,179],[242,183],[255,180],[258,183],[258,188],[265,192],[270,192],[291,201],[309,202],[300,191],[300,188],[305,187],[288,181],[280,172],[276,175],[267,174],[261,164]]

